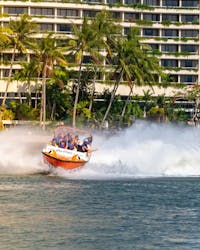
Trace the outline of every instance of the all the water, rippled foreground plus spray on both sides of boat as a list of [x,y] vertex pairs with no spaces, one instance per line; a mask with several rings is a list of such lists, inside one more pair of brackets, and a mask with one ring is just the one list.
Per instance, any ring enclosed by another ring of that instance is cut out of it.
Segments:
[[200,129],[96,132],[82,169],[48,172],[50,134],[0,136],[0,249],[200,249]]

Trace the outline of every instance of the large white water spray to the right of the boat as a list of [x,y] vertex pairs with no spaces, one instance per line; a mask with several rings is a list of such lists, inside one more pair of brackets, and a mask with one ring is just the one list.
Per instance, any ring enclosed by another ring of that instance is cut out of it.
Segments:
[[96,134],[90,162],[66,178],[200,176],[200,128],[137,122],[114,136]]

